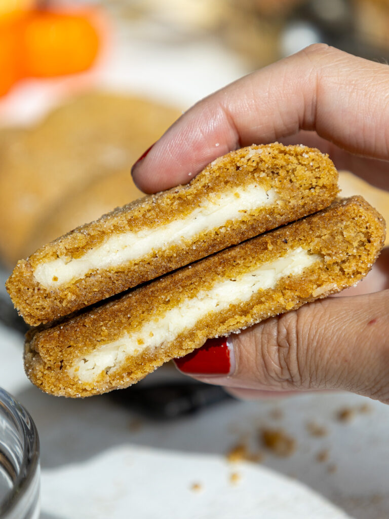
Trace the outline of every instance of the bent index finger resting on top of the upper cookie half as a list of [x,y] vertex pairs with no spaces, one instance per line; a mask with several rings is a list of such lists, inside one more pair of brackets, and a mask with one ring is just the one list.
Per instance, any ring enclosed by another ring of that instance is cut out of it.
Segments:
[[185,184],[241,146],[300,129],[358,154],[388,158],[389,67],[316,44],[190,108],[133,166],[146,193]]

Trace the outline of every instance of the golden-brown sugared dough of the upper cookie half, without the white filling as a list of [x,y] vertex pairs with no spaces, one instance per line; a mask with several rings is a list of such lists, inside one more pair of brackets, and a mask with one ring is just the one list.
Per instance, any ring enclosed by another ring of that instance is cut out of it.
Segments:
[[[95,268],[71,282],[46,288],[34,269],[58,257],[79,258],[113,235],[167,225],[204,200],[255,182],[274,189],[274,203],[246,211],[222,227],[166,244],[118,266]],[[7,281],[13,304],[31,325],[46,323],[182,267],[230,245],[327,207],[338,193],[338,174],[327,155],[305,146],[250,146],[220,157],[189,184],[146,196],[80,226],[18,262]]]

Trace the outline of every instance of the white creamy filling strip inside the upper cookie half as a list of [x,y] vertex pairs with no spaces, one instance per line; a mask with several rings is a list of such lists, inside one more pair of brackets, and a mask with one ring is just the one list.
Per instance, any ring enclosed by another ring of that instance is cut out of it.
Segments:
[[228,220],[239,220],[244,213],[267,206],[275,199],[274,189],[266,191],[257,184],[237,187],[213,200],[204,200],[186,218],[152,229],[109,236],[79,258],[63,256],[41,263],[36,267],[34,277],[47,289],[56,288],[84,278],[91,270],[115,267],[204,231],[223,227]]

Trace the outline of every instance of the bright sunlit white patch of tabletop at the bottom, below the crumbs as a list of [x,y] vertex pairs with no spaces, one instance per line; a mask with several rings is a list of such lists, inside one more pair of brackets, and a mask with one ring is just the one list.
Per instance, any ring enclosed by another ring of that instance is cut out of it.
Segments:
[[[232,472],[220,456],[120,446],[87,463],[45,471],[44,510],[58,514],[62,488],[61,517],[120,518],[126,512],[142,519],[348,517],[298,482],[269,469],[244,463],[237,471],[241,477],[237,484],[230,482]],[[193,484],[201,488],[193,490]]]

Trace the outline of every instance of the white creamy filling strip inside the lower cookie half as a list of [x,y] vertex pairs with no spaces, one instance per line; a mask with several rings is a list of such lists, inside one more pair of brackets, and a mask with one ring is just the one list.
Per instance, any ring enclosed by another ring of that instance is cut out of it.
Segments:
[[286,256],[265,263],[236,279],[218,282],[211,290],[200,291],[196,297],[185,299],[164,315],[155,319],[150,316],[150,320],[136,332],[124,333],[119,339],[99,346],[85,358],[78,360],[68,373],[81,381],[91,382],[102,371],[119,367],[129,355],[169,343],[185,330],[195,326],[210,312],[248,301],[254,293],[275,288],[281,278],[299,275],[317,261],[321,261],[321,256],[309,254],[299,247],[288,252]]

